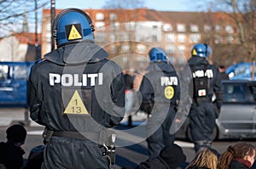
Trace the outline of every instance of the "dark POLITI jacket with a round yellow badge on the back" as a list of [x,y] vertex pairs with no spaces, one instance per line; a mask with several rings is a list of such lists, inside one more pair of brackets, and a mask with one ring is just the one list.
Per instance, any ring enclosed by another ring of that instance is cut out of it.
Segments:
[[[153,62],[146,69],[140,92],[143,103],[160,103],[176,105],[179,99],[179,82],[176,70],[166,62]],[[172,93],[166,93],[166,87],[172,86]]]

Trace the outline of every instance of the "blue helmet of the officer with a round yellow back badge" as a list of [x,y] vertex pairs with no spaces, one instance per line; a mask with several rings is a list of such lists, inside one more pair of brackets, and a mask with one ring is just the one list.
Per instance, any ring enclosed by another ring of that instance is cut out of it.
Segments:
[[148,52],[151,62],[167,61],[166,52],[162,48],[151,48]]

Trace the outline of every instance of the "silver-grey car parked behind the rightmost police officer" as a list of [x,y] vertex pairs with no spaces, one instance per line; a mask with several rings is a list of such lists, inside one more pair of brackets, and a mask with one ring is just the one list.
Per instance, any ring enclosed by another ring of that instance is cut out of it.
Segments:
[[[216,119],[213,139],[256,138],[256,82],[223,81],[224,102]],[[176,132],[176,138],[189,138],[189,119]]]

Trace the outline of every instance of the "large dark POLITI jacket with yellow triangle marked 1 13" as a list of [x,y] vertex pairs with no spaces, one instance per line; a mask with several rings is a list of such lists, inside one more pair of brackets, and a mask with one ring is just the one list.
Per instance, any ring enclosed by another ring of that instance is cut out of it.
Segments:
[[[122,70],[107,57],[91,41],[46,54],[32,66],[28,80],[32,120],[54,131],[71,132],[99,132],[100,127],[90,128],[94,121],[103,127],[118,124],[125,113],[125,82]],[[81,118],[86,116],[93,120]]]

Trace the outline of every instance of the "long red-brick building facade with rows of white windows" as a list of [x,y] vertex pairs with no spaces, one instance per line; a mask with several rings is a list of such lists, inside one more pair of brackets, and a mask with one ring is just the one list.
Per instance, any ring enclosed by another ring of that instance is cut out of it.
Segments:
[[[58,14],[61,9],[56,9]],[[124,69],[142,67],[148,50],[166,50],[174,64],[190,58],[190,50],[198,42],[212,46],[237,43],[234,20],[225,14],[203,12],[157,11],[137,9],[84,9],[95,25],[95,40],[111,58],[121,57]],[[51,50],[50,9],[43,10],[42,56]],[[120,60],[120,59],[119,59]],[[124,64],[125,63],[125,64]]]

